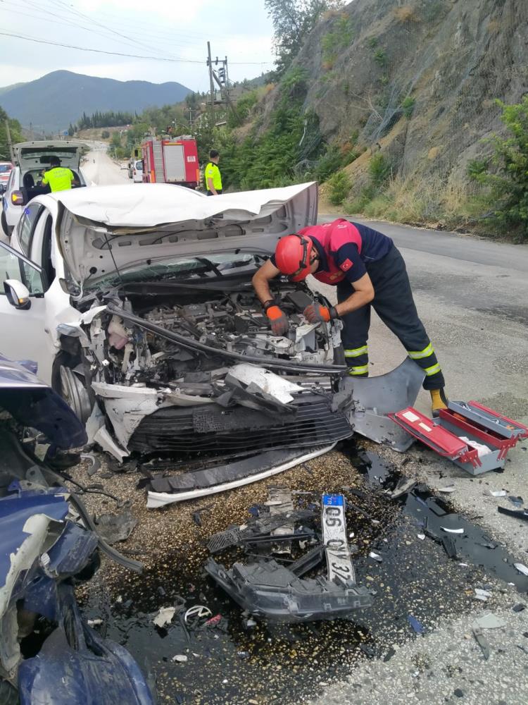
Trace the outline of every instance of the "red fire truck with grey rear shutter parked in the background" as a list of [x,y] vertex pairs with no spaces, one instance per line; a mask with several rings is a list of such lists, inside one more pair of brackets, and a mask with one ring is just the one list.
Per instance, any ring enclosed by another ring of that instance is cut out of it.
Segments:
[[197,188],[200,181],[198,149],[190,135],[147,140],[142,144],[145,183],[175,183]]

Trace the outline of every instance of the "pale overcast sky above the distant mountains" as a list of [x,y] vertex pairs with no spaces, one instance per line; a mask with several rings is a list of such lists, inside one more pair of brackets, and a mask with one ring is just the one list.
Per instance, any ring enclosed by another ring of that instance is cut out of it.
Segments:
[[[1,32],[185,61],[108,56]],[[205,91],[208,40],[213,61],[227,55],[231,80],[241,80],[272,68],[271,38],[263,0],[0,0],[0,86],[67,69],[118,80],[178,81]]]

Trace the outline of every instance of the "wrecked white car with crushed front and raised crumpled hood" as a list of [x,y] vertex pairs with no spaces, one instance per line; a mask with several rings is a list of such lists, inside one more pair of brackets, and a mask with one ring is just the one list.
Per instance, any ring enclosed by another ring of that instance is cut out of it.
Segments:
[[0,350],[36,361],[118,460],[215,465],[179,476],[179,498],[284,470],[352,433],[332,407],[341,322],[307,324],[303,309],[324,299],[281,278],[291,329],[273,336],[251,286],[277,240],[316,217],[315,183],[214,199],[165,184],[37,196],[12,247],[0,243]]

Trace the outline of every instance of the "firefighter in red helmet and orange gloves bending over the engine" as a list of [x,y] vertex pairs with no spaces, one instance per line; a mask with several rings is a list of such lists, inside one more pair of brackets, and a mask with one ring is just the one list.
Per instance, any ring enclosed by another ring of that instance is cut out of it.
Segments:
[[310,323],[336,318],[343,321],[341,338],[349,375],[368,376],[372,305],[409,357],[425,372],[423,386],[431,393],[433,415],[446,408],[444,375],[418,317],[405,262],[391,238],[344,219],[309,226],[281,238],[275,255],[253,276],[253,287],[272,332],[282,336],[289,329],[289,321],[270,292],[270,280],[279,274],[287,275],[290,281],[302,281],[313,274],[318,281],[337,286],[335,307],[313,302],[304,310],[304,316]]

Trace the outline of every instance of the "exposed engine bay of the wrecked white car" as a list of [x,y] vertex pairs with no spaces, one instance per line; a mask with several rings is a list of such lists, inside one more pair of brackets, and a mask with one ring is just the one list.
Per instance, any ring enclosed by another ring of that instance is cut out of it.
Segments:
[[[157,299],[158,305],[149,308],[142,301],[126,299],[119,302],[122,317],[115,312],[95,317],[87,332],[99,360],[96,377],[125,386],[169,384],[188,376],[186,373],[212,372],[222,367],[225,371],[229,364],[222,355],[204,354],[179,345],[165,338],[163,331],[208,348],[258,358],[263,364],[277,358],[310,364],[334,362],[341,324],[308,324],[302,311],[313,298],[303,291],[292,288],[277,296],[291,324],[287,336],[272,335],[253,291],[209,297],[181,304],[175,304],[174,298],[161,304]],[[127,319],[127,314],[163,331],[146,330]]]

